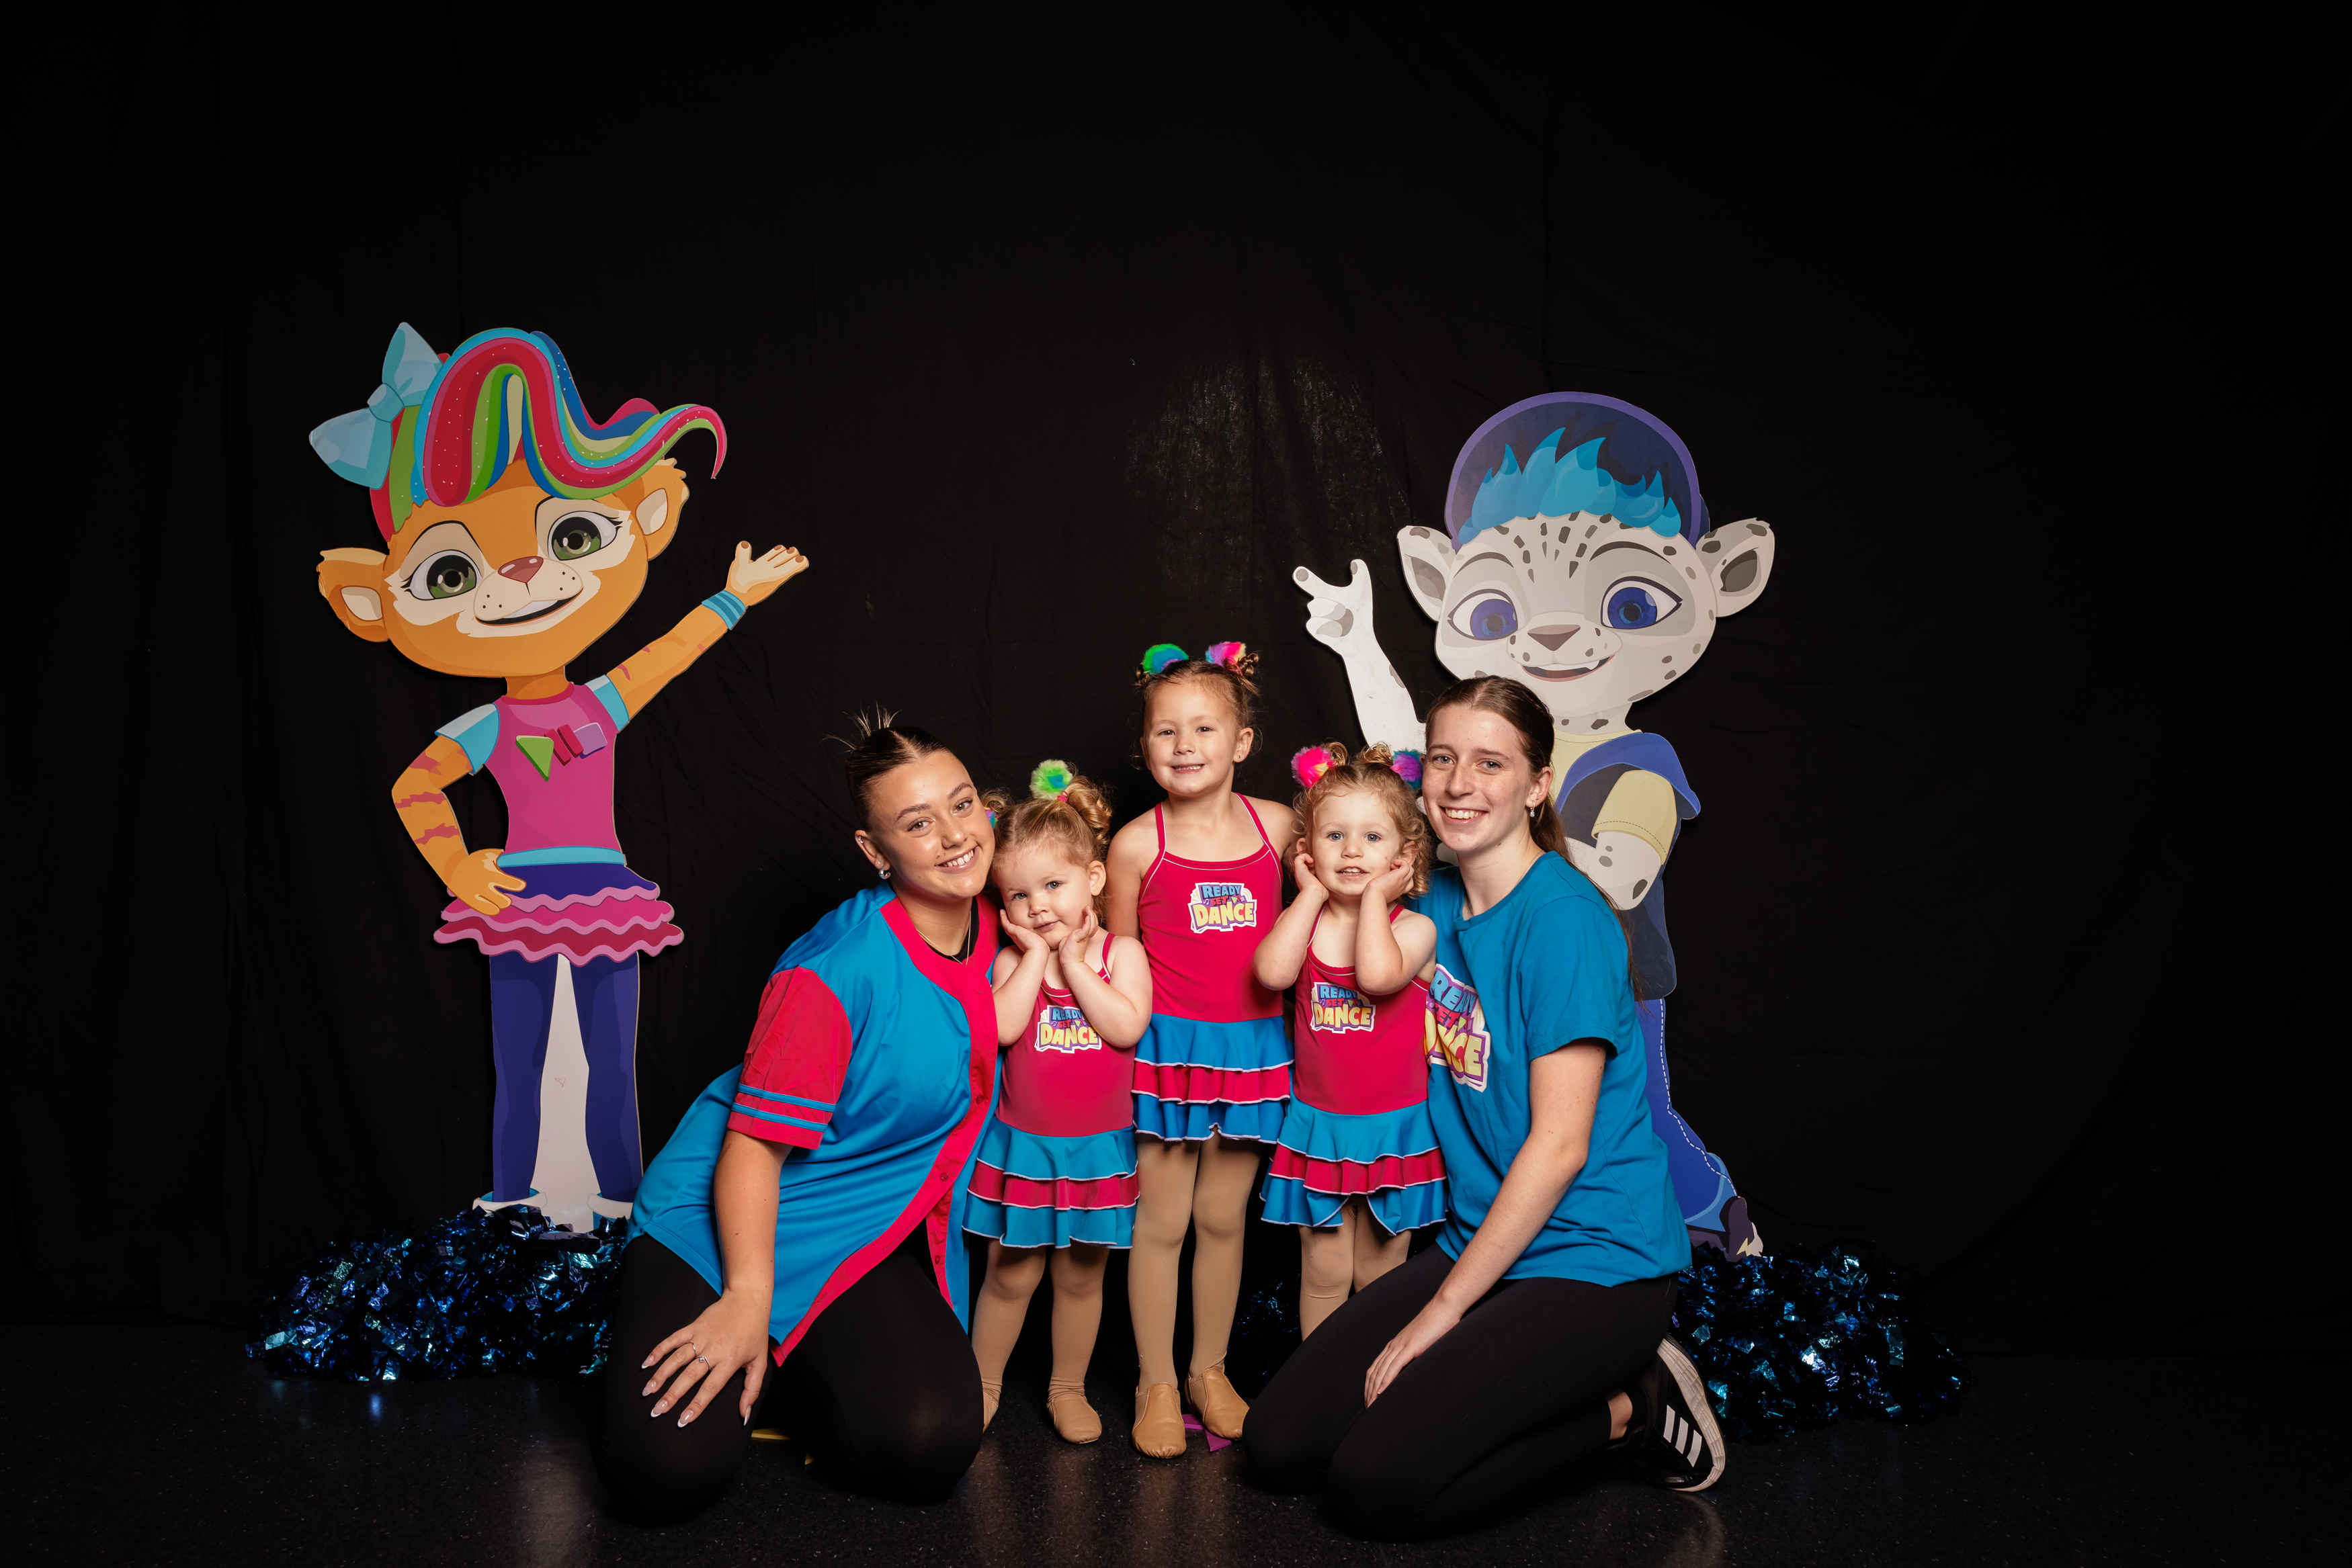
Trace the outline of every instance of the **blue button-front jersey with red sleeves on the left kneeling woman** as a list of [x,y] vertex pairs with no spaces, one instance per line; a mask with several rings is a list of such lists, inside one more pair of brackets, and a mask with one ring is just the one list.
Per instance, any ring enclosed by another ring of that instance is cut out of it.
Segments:
[[978,919],[971,957],[955,961],[922,940],[889,889],[858,893],[776,961],[743,1065],[713,1079],[644,1173],[637,1229],[717,1291],[720,1145],[729,1131],[786,1145],[776,1361],[917,1225],[941,1295],[964,1316],[964,1234],[950,1220],[995,1103],[995,922]]

